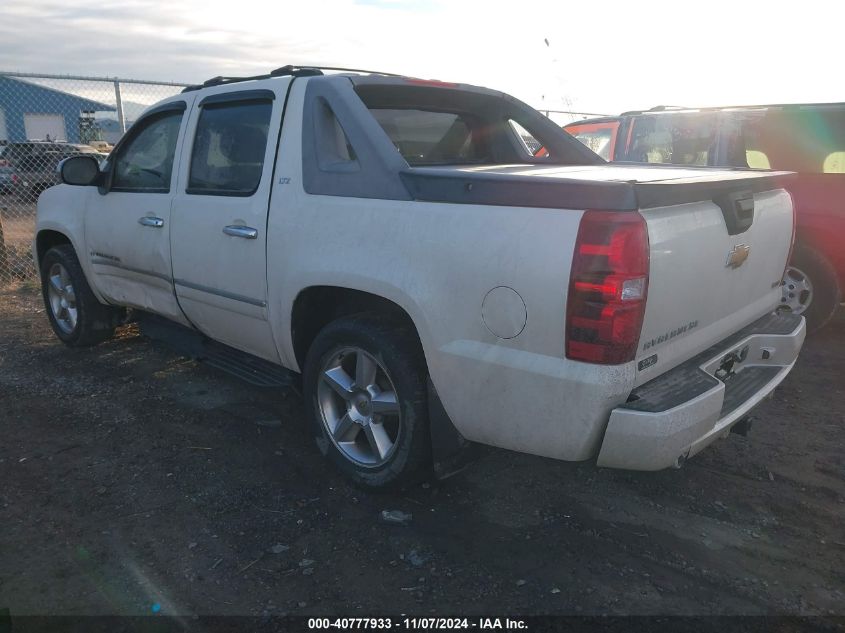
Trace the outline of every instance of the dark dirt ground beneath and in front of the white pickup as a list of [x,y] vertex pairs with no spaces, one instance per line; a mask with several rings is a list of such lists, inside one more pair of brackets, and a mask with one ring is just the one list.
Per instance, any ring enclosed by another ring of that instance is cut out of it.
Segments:
[[[376,495],[293,392],[0,292],[0,608],[23,614],[845,614],[845,315],[682,470],[488,450]],[[407,526],[379,520],[410,512]]]

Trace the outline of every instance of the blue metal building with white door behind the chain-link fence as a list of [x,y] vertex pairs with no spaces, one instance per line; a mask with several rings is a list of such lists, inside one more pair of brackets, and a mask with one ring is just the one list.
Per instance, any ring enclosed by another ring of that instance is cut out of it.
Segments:
[[0,142],[85,143],[98,138],[94,113],[114,111],[105,103],[0,75]]

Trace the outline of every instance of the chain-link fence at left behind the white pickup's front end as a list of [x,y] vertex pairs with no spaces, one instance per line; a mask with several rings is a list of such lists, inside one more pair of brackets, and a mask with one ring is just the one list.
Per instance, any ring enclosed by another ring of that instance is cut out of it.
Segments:
[[0,71],[0,286],[35,276],[35,202],[59,161],[103,159],[148,106],[184,84]]

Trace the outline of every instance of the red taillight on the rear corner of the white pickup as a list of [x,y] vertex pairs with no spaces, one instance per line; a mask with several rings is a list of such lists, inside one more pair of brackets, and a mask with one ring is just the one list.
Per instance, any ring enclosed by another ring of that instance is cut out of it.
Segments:
[[639,213],[584,213],[569,281],[567,358],[603,365],[634,359],[645,313],[648,252]]

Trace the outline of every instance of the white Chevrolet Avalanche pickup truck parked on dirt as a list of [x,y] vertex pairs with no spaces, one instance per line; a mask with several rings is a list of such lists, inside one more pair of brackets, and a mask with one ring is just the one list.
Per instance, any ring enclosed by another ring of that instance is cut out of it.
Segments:
[[373,488],[473,443],[679,466],[804,340],[774,312],[788,175],[608,165],[492,90],[216,78],[61,172],[33,249],[56,335],[155,315],[220,366],[301,374],[320,450]]

